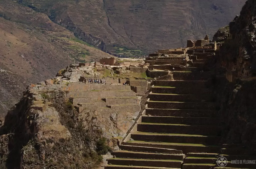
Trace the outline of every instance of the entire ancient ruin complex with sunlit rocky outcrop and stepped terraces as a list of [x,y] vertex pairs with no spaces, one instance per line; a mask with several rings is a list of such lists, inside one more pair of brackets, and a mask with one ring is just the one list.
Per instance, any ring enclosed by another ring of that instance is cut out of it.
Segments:
[[[3,158],[24,168],[49,167],[54,162],[61,168],[76,156],[73,160],[81,161],[73,166],[82,168],[89,165],[83,158],[96,144],[95,133],[100,133],[113,148],[102,164],[105,169],[255,168],[231,163],[254,157],[223,138],[212,69],[222,47],[206,35],[188,40],[186,48],[158,50],[137,61],[104,58],[69,65],[55,78],[31,84],[0,128]],[[234,80],[229,73],[225,78]],[[15,119],[22,120],[24,127]],[[19,136],[24,140],[17,143]],[[33,144],[27,142],[30,138]],[[72,147],[61,150],[62,161],[52,155],[58,152],[59,140]],[[7,156],[10,146],[16,146],[21,157]]]

